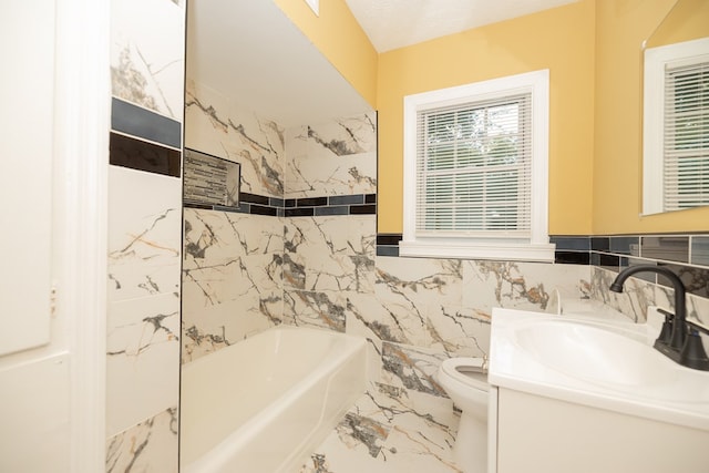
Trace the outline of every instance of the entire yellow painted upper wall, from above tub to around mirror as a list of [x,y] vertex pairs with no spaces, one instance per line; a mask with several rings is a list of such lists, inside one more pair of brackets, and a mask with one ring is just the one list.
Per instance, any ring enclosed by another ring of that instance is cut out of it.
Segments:
[[404,95],[538,69],[551,71],[552,235],[709,229],[709,207],[639,215],[640,47],[676,0],[580,0],[379,55],[343,0],[320,0],[320,17],[274,1],[379,111],[379,233],[403,229]]

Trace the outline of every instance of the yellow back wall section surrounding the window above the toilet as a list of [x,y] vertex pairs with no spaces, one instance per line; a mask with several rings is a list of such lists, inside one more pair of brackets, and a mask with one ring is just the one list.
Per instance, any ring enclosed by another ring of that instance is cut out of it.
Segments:
[[546,10],[382,53],[379,225],[401,233],[404,95],[549,69],[549,232],[592,232],[594,2]]

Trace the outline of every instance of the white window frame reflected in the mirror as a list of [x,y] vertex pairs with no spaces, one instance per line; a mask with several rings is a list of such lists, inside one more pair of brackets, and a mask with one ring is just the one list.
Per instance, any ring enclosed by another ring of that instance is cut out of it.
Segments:
[[707,61],[709,38],[645,50],[643,88],[643,215],[665,210],[665,69]]

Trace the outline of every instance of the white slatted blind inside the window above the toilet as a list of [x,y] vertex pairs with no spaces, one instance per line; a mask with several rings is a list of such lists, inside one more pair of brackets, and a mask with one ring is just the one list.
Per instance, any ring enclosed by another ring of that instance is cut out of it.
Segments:
[[531,235],[531,93],[417,112],[417,236]]

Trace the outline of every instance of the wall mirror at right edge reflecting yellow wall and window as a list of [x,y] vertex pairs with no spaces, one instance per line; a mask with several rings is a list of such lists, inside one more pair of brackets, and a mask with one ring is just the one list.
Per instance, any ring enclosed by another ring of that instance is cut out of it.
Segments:
[[643,214],[709,205],[709,2],[678,0],[645,41]]

